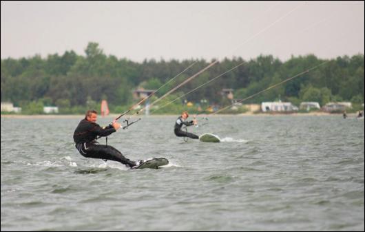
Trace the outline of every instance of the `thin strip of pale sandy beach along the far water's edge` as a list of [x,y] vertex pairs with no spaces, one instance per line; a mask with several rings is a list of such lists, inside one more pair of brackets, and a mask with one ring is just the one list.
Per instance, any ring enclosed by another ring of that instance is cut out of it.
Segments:
[[[116,118],[119,114],[110,114],[105,118]],[[145,115],[143,115],[145,117]],[[161,117],[161,116],[178,116],[178,114],[157,114],[157,115],[149,115],[148,117]],[[191,114],[194,116],[194,114]],[[210,117],[218,117],[218,116],[342,116],[342,114],[330,114],[326,112],[310,112],[310,113],[293,113],[293,114],[253,114],[253,113],[244,113],[244,114],[200,114],[199,116],[210,116]],[[348,117],[357,116],[357,114],[347,114]],[[85,115],[83,114],[34,114],[34,115],[26,115],[26,114],[1,114],[1,118],[83,118]],[[98,118],[103,118],[98,115]]]

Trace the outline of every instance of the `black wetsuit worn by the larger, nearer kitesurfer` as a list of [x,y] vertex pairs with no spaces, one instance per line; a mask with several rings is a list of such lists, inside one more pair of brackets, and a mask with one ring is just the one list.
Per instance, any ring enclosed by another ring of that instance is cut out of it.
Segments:
[[80,154],[87,158],[100,158],[104,160],[114,160],[123,163],[129,167],[136,165],[136,162],[129,160],[112,146],[99,145],[96,142],[98,136],[109,136],[116,130],[112,125],[102,128],[96,123],[86,119],[81,120],[74,131],[74,142],[76,149]]

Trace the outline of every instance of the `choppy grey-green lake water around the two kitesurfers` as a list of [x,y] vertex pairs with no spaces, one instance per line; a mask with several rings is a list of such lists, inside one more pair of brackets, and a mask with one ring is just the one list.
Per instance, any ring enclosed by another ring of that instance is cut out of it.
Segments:
[[128,158],[170,161],[140,170],[83,158],[72,141],[82,118],[1,118],[1,231],[364,231],[364,120],[216,116],[189,127],[222,138],[213,144],[174,136],[176,118],[110,136]]

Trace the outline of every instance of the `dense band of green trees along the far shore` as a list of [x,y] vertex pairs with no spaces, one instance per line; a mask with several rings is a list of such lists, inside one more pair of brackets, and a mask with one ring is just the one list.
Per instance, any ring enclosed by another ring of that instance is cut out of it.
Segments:
[[[223,88],[234,89],[234,98],[242,99],[324,61],[313,54],[292,56],[285,62],[272,55],[260,55],[249,61],[240,57],[224,59],[178,89],[169,99],[181,96],[242,63],[175,102],[182,105],[185,100],[193,103],[205,100],[207,105],[228,105],[227,98],[220,94]],[[25,109],[37,104],[56,105],[64,113],[81,113],[86,107],[98,108],[101,100],[106,99],[112,111],[120,111],[136,102],[132,98],[134,89],[157,89],[194,62],[196,64],[189,70],[160,89],[156,97],[202,70],[211,61],[146,59],[138,63],[107,56],[98,43],[92,42],[88,43],[84,56],[67,51],[62,55],[50,54],[45,59],[39,55],[1,59],[1,101],[10,101]],[[321,105],[329,101],[364,103],[364,54],[331,59],[326,65],[245,103],[274,101],[279,97],[296,105],[301,101],[317,101]]]

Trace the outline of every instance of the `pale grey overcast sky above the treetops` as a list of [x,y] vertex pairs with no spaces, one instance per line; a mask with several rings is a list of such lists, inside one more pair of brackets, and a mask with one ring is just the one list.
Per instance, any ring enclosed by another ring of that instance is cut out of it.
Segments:
[[1,59],[41,54],[143,59],[364,54],[364,1],[1,1]]

